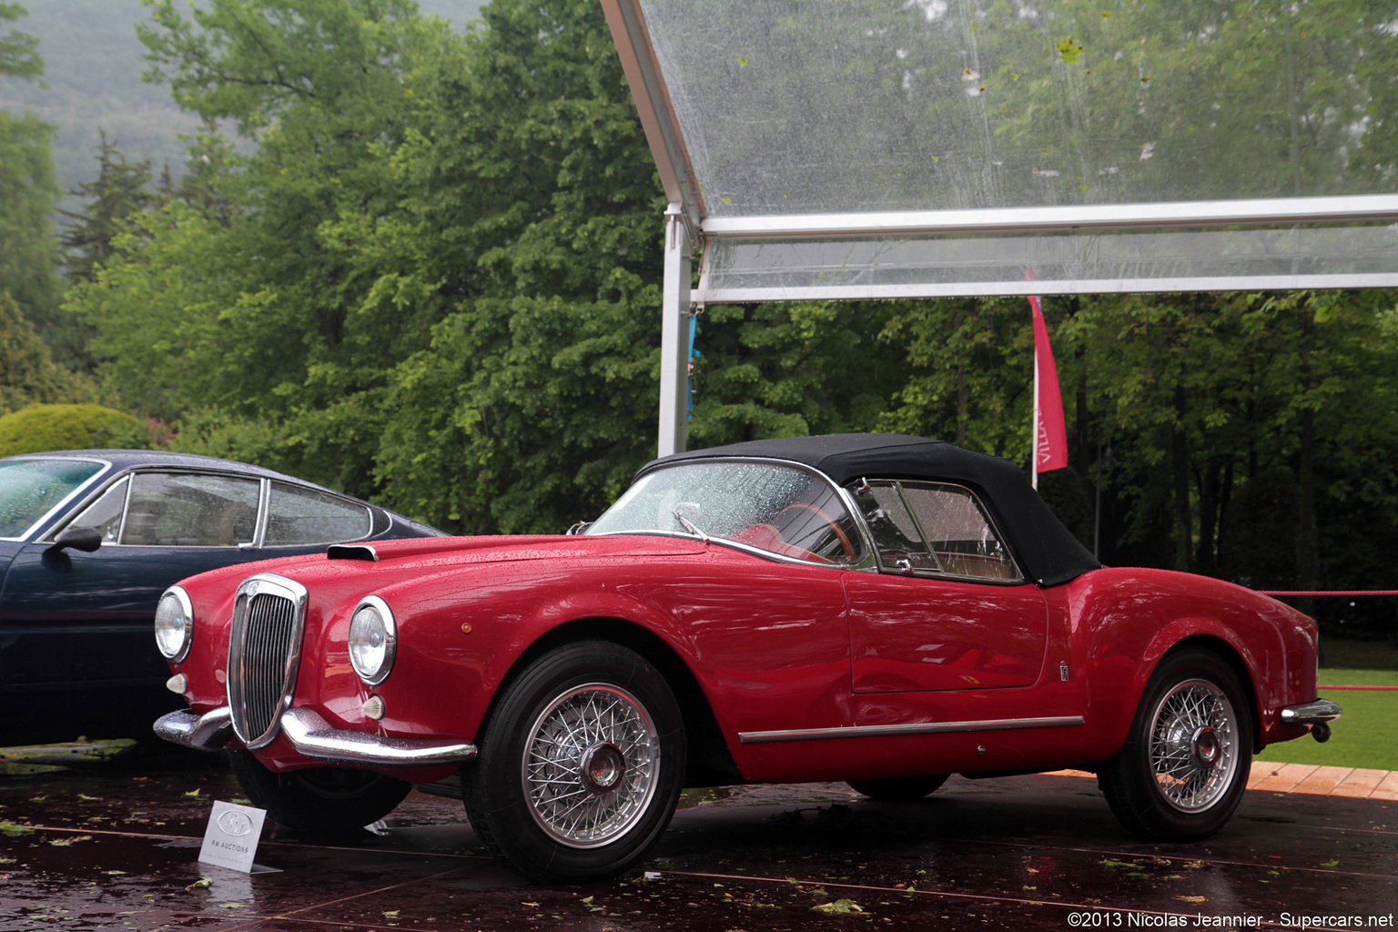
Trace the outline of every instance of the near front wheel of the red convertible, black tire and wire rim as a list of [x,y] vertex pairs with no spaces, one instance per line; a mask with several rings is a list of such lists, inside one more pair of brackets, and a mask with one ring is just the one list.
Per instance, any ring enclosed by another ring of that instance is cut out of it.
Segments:
[[608,878],[670,824],[685,728],[664,678],[635,651],[580,641],[528,665],[461,769],[466,815],[498,858],[535,880]]

